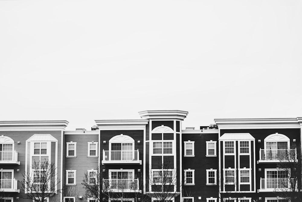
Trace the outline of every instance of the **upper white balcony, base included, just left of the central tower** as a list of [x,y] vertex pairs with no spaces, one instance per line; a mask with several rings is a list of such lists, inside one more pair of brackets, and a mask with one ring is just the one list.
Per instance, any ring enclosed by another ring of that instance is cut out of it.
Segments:
[[133,151],[105,151],[103,150],[102,164],[142,164],[138,150]]

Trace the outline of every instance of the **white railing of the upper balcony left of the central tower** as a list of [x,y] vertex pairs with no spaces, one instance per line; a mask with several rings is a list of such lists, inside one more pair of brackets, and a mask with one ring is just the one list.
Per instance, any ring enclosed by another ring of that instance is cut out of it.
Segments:
[[139,151],[105,151],[103,161],[139,161]]

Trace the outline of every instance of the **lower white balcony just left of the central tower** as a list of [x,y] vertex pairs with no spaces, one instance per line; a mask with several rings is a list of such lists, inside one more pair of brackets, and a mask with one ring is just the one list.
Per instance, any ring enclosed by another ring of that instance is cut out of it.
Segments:
[[140,192],[138,179],[103,179],[103,190],[112,192]]

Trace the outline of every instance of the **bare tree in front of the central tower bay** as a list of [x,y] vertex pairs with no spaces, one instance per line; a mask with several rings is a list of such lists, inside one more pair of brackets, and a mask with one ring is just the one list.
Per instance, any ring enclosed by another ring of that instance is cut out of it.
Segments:
[[151,191],[147,193],[149,197],[154,197],[159,201],[170,201],[180,195],[181,184],[177,184],[176,169],[168,168],[169,162],[164,162],[159,169],[151,169],[149,182]]

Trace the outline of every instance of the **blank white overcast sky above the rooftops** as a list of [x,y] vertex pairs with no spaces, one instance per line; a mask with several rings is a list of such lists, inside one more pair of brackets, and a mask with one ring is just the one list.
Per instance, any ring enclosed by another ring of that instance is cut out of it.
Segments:
[[302,1],[0,0],[0,120],[302,116]]

